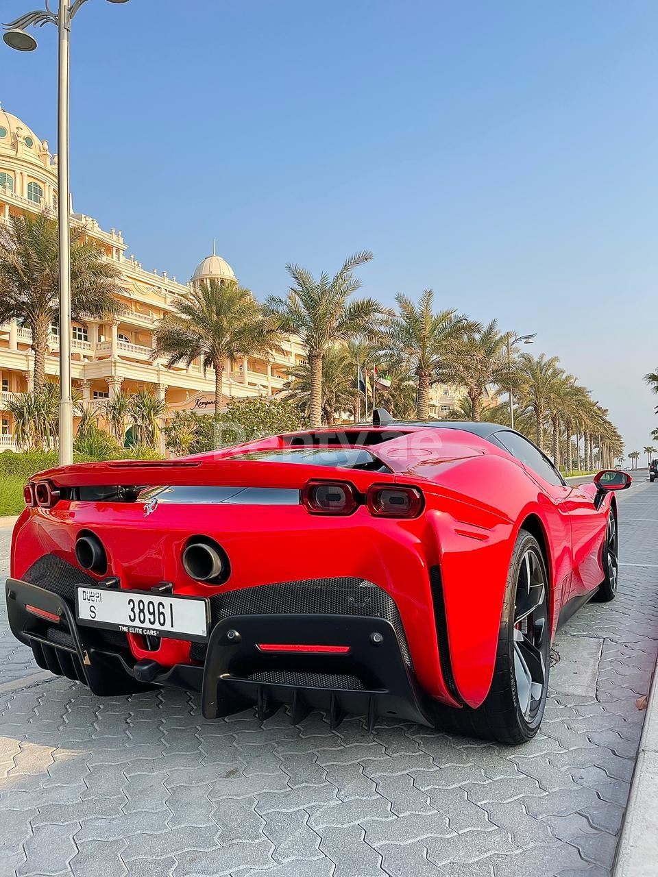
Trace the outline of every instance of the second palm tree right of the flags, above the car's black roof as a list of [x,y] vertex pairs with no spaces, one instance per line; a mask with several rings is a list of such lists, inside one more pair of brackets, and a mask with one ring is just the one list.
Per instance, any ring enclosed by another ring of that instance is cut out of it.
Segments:
[[511,370],[507,364],[507,335],[498,332],[497,320],[473,326],[454,348],[454,356],[443,373],[451,383],[466,389],[471,418],[480,420],[483,396],[494,385],[509,388]]

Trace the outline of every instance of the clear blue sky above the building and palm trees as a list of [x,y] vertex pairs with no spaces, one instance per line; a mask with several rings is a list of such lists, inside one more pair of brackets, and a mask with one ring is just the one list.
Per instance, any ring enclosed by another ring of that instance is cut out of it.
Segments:
[[[5,0],[4,20],[28,8]],[[261,297],[287,261],[371,249],[364,292],[431,286],[441,308],[537,331],[533,352],[641,450],[657,27],[653,0],[94,0],[72,43],[75,210],[182,280],[216,238]],[[54,147],[55,34],[38,36],[0,47],[0,98]]]

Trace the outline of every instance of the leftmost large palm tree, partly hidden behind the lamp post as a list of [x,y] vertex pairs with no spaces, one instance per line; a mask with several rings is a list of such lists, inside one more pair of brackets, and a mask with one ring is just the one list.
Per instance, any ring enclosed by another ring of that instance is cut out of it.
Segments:
[[[0,323],[20,320],[32,332],[33,389],[46,382],[51,326],[59,322],[57,223],[45,214],[11,216],[0,226]],[[74,319],[117,315],[118,268],[85,237],[71,231],[71,315]]]

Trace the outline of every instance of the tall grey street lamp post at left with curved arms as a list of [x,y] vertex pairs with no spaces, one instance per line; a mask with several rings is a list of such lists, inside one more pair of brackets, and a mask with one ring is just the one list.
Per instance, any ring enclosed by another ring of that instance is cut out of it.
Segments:
[[[127,0],[108,0],[126,3]],[[57,222],[60,239],[60,466],[73,462],[73,397],[71,393],[71,236],[70,186],[68,182],[68,84],[71,21],[87,0],[60,0],[56,12],[45,0],[46,9],[26,12],[5,25],[4,42],[19,52],[32,52],[37,40],[26,27],[56,25],[58,32],[57,75]]]

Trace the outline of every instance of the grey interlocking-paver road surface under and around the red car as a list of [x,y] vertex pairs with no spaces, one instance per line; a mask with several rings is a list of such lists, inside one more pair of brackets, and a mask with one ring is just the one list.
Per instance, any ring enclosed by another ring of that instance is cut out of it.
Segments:
[[399,722],[330,731],[320,714],[291,727],[283,710],[206,722],[175,691],[98,699],[42,674],[3,607],[0,877],[608,874],[658,652],[658,485],[643,477],[619,495],[619,595],[559,633],[524,746]]

